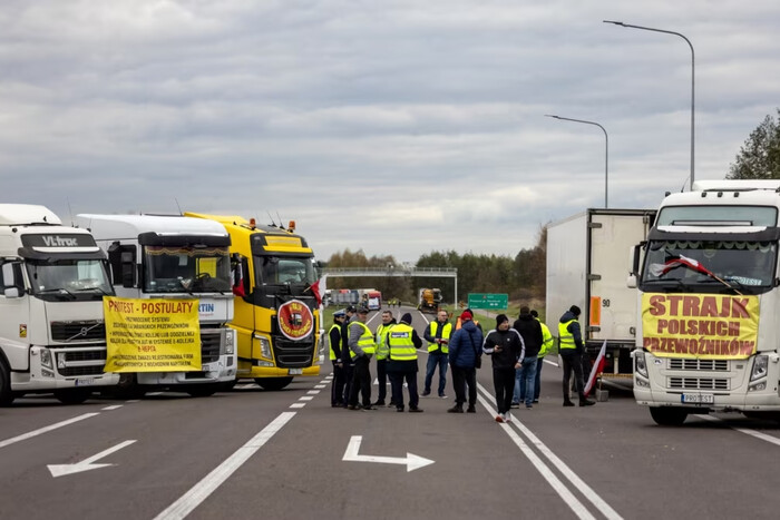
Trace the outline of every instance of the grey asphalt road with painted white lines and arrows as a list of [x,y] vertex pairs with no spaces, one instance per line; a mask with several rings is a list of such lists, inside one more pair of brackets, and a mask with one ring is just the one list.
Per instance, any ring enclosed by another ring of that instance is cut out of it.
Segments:
[[438,398],[420,414],[332,409],[330,370],[280,392],[20,399],[0,409],[0,518],[778,518],[778,424],[661,428],[630,393],[563,408],[552,363],[539,404],[498,424],[489,365],[476,414]]

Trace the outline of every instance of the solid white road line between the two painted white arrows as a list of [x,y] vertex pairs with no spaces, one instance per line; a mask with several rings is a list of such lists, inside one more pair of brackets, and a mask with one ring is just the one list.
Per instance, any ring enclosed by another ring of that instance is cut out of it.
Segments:
[[220,485],[222,485],[238,468],[241,468],[257,450],[271,440],[298,412],[282,412],[271,424],[261,430],[246,444],[238,448],[222,464],[217,465],[195,484],[182,498],[172,503],[165,511],[157,514],[155,520],[182,519],[203,503]]

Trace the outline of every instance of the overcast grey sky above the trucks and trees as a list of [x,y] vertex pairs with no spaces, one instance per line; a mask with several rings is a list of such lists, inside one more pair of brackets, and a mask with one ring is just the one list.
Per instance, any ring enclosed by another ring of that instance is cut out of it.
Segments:
[[295,219],[315,254],[508,254],[723,178],[780,106],[777,0],[6,0],[1,202]]

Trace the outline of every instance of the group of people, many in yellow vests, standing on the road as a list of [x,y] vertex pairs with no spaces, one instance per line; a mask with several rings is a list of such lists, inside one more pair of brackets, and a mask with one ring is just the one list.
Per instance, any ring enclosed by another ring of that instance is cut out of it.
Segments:
[[[411,326],[411,314],[403,314],[397,322],[392,312],[386,310],[373,333],[365,324],[368,314],[369,310],[365,306],[349,306],[333,314],[334,323],[328,333],[334,374],[331,405],[348,410],[373,410],[383,406],[389,379],[389,405],[399,412],[404,411],[406,382],[409,391],[409,412],[422,412],[419,408],[417,386],[417,350],[422,346],[422,340]],[[572,373],[579,395],[579,405],[594,404],[584,393],[584,344],[577,321],[579,314],[579,307],[573,305],[558,323],[558,346],[564,370],[564,406],[574,406],[569,399]],[[482,354],[489,355],[493,361],[497,422],[510,421],[509,410],[519,406],[520,403],[525,403],[526,409],[533,409],[534,403],[538,402],[544,357],[550,351],[554,339],[549,328],[538,320],[538,313],[528,306],[520,307],[520,314],[511,325],[505,314],[496,316],[496,328],[487,335],[484,335],[479,323],[474,321],[470,310],[465,310],[455,325],[449,322],[448,313],[441,310],[437,320],[426,326],[423,339],[428,342],[428,361],[422,396],[431,394],[433,375],[438,369],[437,392],[439,398],[447,398],[445,390],[449,366],[455,389],[455,405],[447,410],[449,413],[476,412],[476,371],[481,366]],[[373,403],[369,367],[372,356],[377,357],[379,382],[379,395]]]

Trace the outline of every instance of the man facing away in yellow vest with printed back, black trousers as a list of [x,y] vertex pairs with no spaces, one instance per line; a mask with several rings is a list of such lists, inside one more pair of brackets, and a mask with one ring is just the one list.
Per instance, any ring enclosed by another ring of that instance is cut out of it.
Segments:
[[409,411],[422,412],[418,406],[420,396],[417,393],[417,349],[422,346],[422,340],[411,326],[411,314],[401,316],[401,322],[394,325],[387,335],[389,357],[388,375],[392,387],[392,401],[396,411],[403,411],[403,381],[409,389]]

